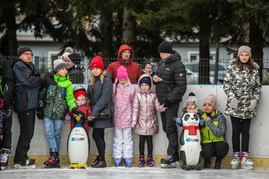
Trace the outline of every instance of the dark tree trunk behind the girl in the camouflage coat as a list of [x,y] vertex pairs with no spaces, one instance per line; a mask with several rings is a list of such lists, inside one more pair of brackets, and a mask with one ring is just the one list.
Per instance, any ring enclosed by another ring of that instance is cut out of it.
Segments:
[[249,20],[249,47],[251,48],[251,58],[260,66],[260,82],[262,82],[263,77],[263,42],[262,29],[252,17]]

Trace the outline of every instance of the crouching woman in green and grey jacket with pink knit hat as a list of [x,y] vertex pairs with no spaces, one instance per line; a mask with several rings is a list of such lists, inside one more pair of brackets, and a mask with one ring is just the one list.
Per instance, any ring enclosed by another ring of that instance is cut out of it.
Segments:
[[222,112],[216,109],[216,97],[210,94],[204,99],[205,127],[200,129],[203,144],[202,156],[204,158],[204,168],[209,168],[211,158],[216,156],[215,169],[220,169],[221,160],[227,155],[229,145],[226,141],[226,119]]

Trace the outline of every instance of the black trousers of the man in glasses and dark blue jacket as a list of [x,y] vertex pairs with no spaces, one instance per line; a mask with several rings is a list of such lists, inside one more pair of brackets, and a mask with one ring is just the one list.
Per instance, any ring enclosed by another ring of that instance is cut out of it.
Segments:
[[27,152],[30,149],[35,129],[36,109],[29,109],[18,113],[18,119],[21,132],[14,156],[14,163],[20,163],[28,159]]

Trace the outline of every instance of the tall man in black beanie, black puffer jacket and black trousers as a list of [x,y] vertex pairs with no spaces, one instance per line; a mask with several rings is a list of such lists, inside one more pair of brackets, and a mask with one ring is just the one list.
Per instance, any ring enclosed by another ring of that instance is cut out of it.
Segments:
[[[161,112],[162,129],[169,141],[167,157],[161,159],[161,167],[176,167],[179,164],[178,133],[173,117],[177,116],[182,97],[187,89],[186,69],[180,54],[172,50],[169,42],[163,41],[158,48],[161,61],[153,77],[160,103],[168,107]],[[168,165],[169,164],[169,165]],[[170,165],[171,164],[171,165]]]

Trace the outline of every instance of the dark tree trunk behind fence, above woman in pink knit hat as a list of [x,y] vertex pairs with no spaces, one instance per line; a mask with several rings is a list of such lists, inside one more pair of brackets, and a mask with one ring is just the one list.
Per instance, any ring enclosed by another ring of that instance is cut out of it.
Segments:
[[200,23],[199,26],[199,84],[210,84],[209,80],[209,35],[210,25]]

